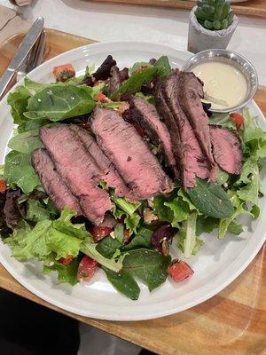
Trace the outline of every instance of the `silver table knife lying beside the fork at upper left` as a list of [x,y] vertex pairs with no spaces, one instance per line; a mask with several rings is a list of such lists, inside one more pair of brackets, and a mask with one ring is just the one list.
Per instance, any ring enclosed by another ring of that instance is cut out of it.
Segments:
[[27,58],[28,53],[31,51],[36,41],[40,38],[43,32],[43,17],[40,16],[35,20],[35,23],[29,28],[27,35],[23,38],[23,41],[20,43],[18,51],[16,51],[12,61],[10,62],[8,68],[5,70],[4,75],[0,78],[0,99],[3,98],[5,91],[9,87],[9,84],[12,82],[14,75],[17,75],[17,72]]

